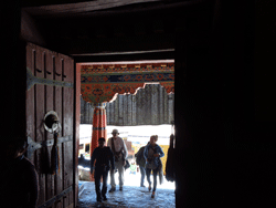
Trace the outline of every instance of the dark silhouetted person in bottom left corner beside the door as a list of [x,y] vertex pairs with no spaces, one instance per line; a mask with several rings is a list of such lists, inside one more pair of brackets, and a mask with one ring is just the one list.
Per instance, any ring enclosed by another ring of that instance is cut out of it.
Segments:
[[7,138],[2,143],[0,204],[6,208],[35,208],[39,181],[34,165],[23,155],[26,139]]

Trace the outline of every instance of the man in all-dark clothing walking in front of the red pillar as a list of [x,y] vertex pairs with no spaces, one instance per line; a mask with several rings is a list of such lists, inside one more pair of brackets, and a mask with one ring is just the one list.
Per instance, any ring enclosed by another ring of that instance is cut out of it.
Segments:
[[[114,165],[114,155],[110,147],[105,146],[105,138],[102,137],[98,139],[98,147],[96,147],[92,154],[91,158],[91,173],[93,174],[94,170],[94,162],[95,164],[95,189],[97,194],[97,201],[102,202],[102,200],[107,200],[106,191],[107,191],[107,176],[108,171],[115,169]],[[103,177],[103,188],[100,191],[100,177]]]

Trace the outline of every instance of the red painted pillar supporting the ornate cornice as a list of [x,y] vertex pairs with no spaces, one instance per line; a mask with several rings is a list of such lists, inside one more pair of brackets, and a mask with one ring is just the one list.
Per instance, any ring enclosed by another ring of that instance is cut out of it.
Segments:
[[[105,139],[107,139],[105,106],[106,106],[106,103],[94,104],[91,155],[93,150],[98,146],[98,138],[104,137]],[[91,175],[91,180],[94,181],[93,175]]]

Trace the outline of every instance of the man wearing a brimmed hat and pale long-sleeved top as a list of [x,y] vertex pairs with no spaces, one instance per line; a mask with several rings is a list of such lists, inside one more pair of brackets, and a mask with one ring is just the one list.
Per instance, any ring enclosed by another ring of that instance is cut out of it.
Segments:
[[[109,146],[113,150],[113,154],[115,157],[115,169],[118,169],[119,171],[119,190],[123,190],[124,166],[126,164],[128,152],[127,152],[127,147],[123,138],[118,136],[119,135],[118,129],[113,129],[112,134],[113,134],[113,137],[108,139],[107,146]],[[114,170],[110,171],[112,189],[109,190],[109,193],[113,193],[116,190],[114,175],[115,175],[115,171]]]

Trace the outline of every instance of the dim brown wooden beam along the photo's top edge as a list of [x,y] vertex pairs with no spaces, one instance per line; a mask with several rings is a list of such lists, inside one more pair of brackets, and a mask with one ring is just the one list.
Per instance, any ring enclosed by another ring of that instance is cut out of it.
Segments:
[[187,9],[182,12],[189,12],[190,7],[205,6],[213,0],[184,0],[184,1],[166,1],[166,0],[98,0],[68,4],[52,4],[41,7],[25,7],[23,10],[31,15],[43,19],[53,18],[74,18],[74,17],[102,17],[131,14],[137,12],[155,12]]

